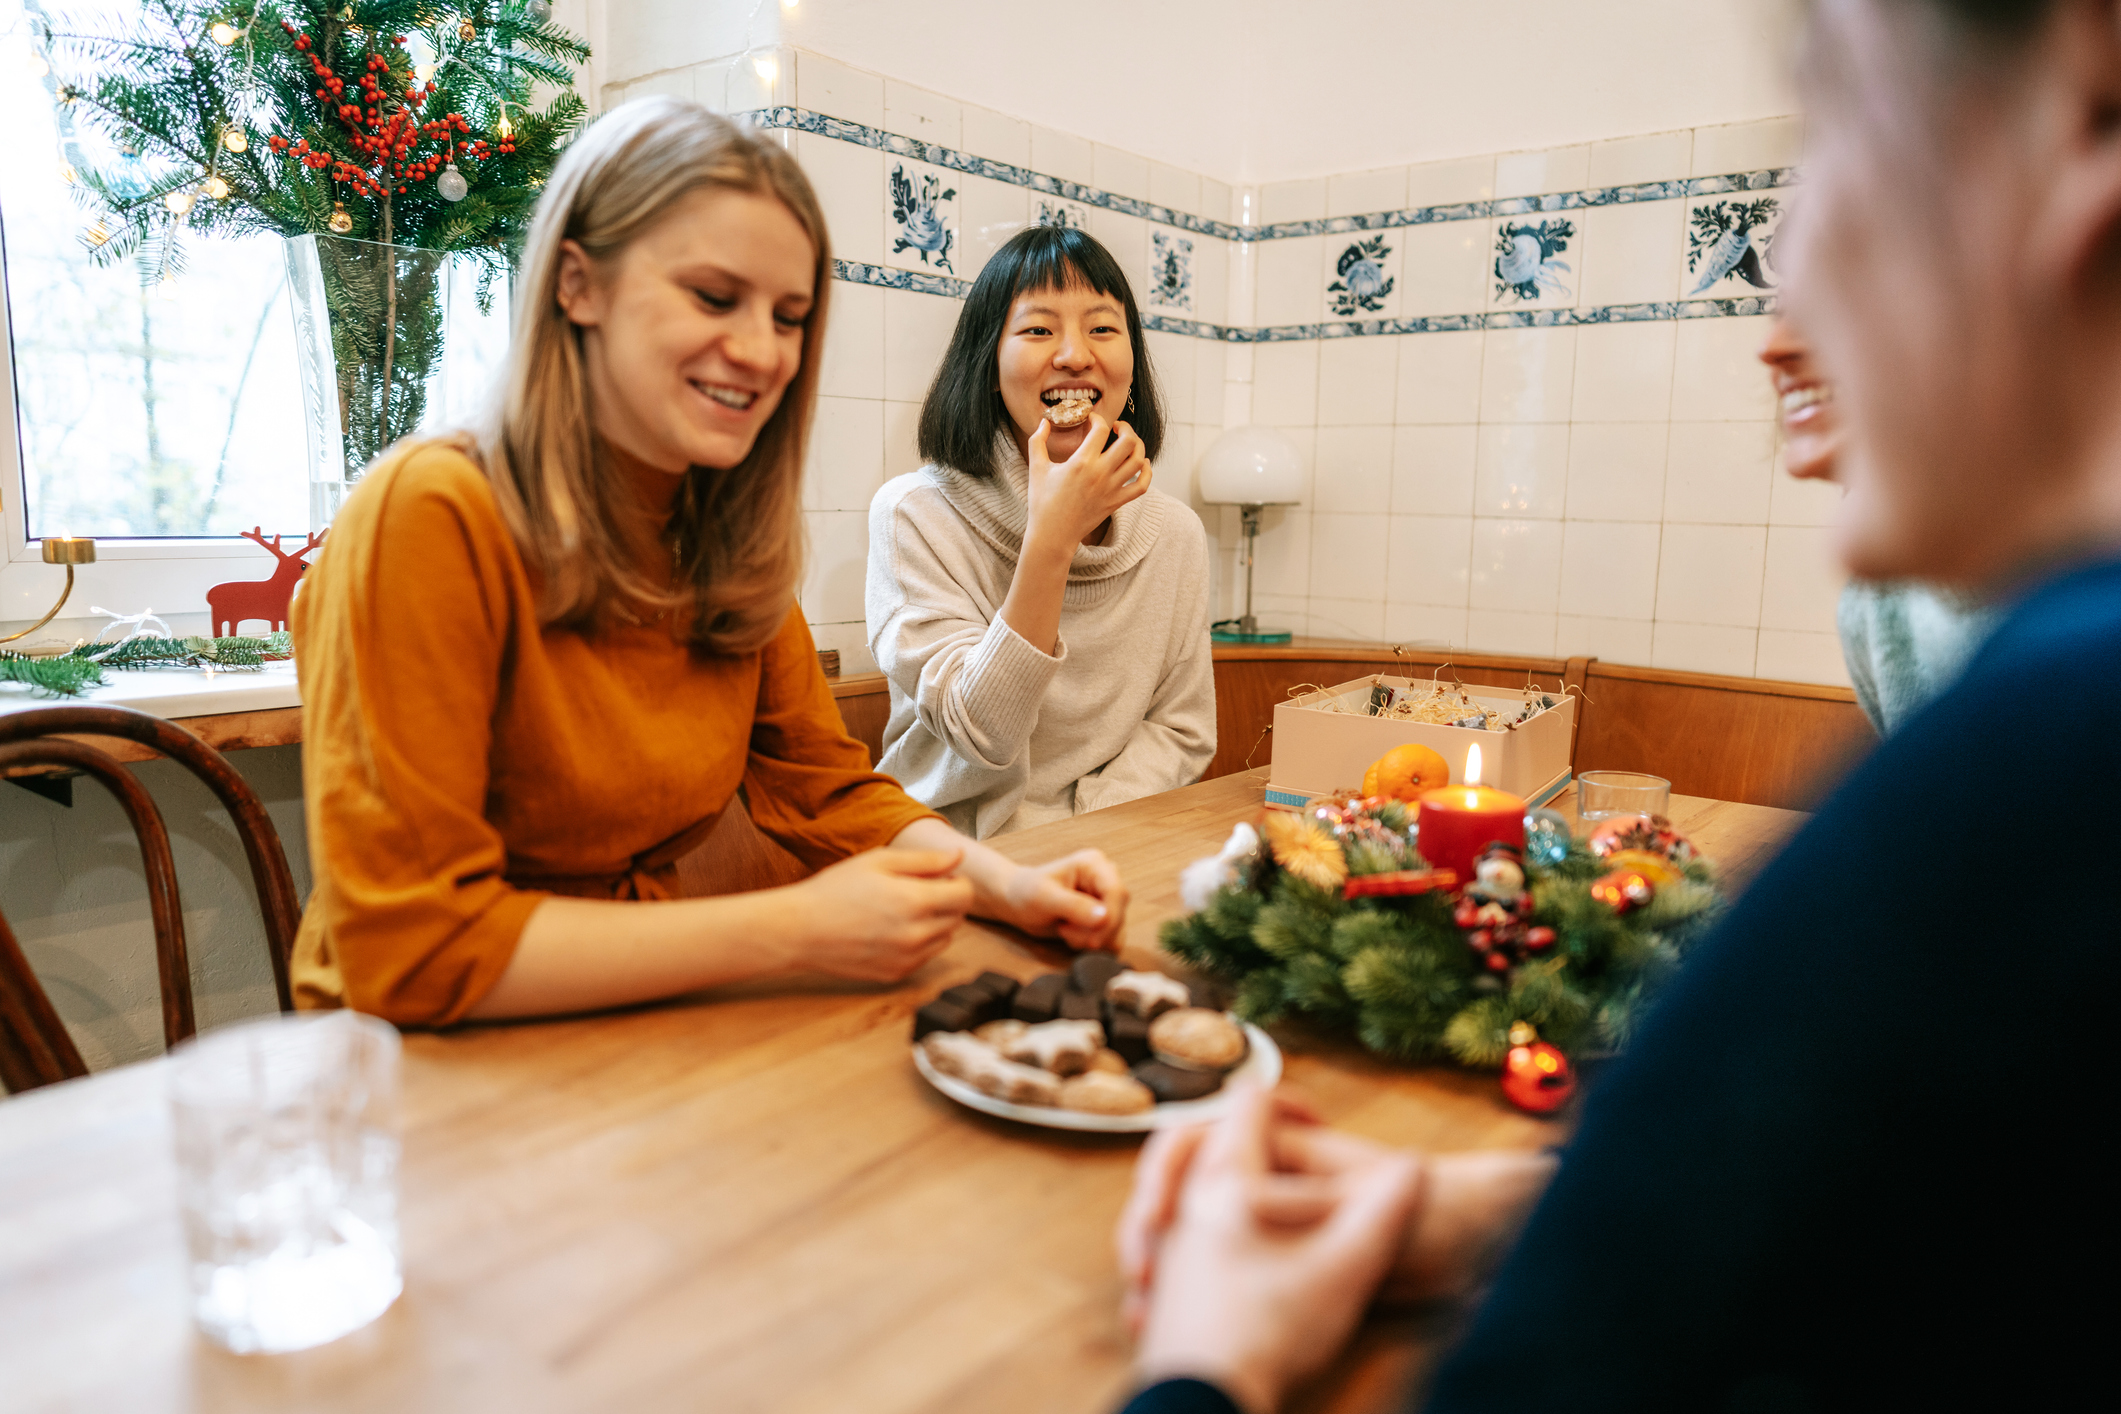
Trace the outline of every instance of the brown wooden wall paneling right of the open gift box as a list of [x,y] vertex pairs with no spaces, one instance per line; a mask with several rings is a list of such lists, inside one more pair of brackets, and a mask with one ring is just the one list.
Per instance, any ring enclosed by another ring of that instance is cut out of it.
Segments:
[[1809,810],[1875,742],[1845,687],[1593,661],[1576,770],[1650,772],[1678,795]]

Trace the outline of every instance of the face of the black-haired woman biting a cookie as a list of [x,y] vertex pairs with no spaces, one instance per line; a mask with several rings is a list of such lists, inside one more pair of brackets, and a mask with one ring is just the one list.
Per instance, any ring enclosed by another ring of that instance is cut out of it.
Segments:
[[[1090,399],[1099,418],[1120,422],[1135,384],[1126,310],[1118,297],[1099,295],[1080,280],[1065,288],[1024,290],[1010,305],[995,365],[1018,447],[1065,396]],[[1065,462],[1088,435],[1088,422],[1054,428],[1046,435],[1046,456]]]

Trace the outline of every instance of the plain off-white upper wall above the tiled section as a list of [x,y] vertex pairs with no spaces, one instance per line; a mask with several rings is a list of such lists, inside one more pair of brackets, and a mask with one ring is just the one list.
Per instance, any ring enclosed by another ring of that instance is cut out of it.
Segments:
[[[613,30],[621,11],[689,8],[609,4]],[[1796,108],[1794,0],[753,4],[700,28],[742,15],[770,42],[778,8],[781,42],[1230,182]]]

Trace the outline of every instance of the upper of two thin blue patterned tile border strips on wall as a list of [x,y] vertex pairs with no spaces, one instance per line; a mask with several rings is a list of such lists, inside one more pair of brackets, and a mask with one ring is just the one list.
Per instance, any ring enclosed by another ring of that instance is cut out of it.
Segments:
[[751,123],[753,127],[804,131],[804,134],[814,134],[819,138],[834,138],[836,142],[853,142],[857,146],[876,148],[878,153],[910,157],[914,161],[925,161],[935,167],[965,172],[967,176],[984,176],[995,182],[1007,182],[1012,187],[1041,191],[1050,197],[1065,197],[1069,201],[1082,201],[1084,206],[1101,206],[1107,212],[1122,212],[1126,216],[1154,220],[1156,225],[1179,227],[1184,231],[1194,231],[1198,235],[1213,235],[1217,240],[1232,240],[1232,242],[1294,240],[1298,235],[1345,235],[1349,231],[1425,227],[1444,220],[1485,220],[1489,216],[1523,216],[1529,212],[1572,212],[1584,206],[1676,201],[1680,197],[1705,197],[1724,191],[1767,191],[1773,187],[1796,184],[1796,167],[1767,167],[1760,172],[1733,172],[1729,176],[1690,176],[1690,178],[1676,178],[1669,182],[1637,182],[1633,187],[1555,191],[1540,197],[1457,201],[1451,206],[1415,206],[1400,212],[1366,212],[1362,216],[1328,216],[1321,220],[1281,220],[1270,227],[1241,227],[1228,220],[1211,220],[1207,216],[1194,216],[1190,212],[1179,212],[1169,206],[1156,206],[1154,201],[1141,201],[1137,197],[1122,197],[1118,193],[1101,191],[1097,187],[1084,187],[1082,182],[1067,182],[1060,180],[1058,176],[1046,176],[1044,172],[1033,172],[1029,167],[995,161],[991,157],[974,157],[971,153],[959,153],[957,148],[948,148],[935,142],[921,142],[918,138],[887,134],[880,127],[825,117],[823,112],[810,112],[808,108],[793,108],[793,106],[751,108],[744,112],[732,112],[730,117],[742,123]]

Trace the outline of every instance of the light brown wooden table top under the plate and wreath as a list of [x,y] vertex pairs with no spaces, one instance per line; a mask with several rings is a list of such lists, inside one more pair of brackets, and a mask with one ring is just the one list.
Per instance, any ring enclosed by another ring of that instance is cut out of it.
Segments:
[[[999,844],[1097,844],[1156,958],[1177,869],[1260,803],[1224,776]],[[1565,803],[1565,797],[1563,797]],[[1748,871],[1801,820],[1673,799]],[[1137,1145],[954,1107],[912,1009],[1058,954],[967,926],[901,988],[747,988],[405,1041],[405,1295],[293,1357],[193,1336],[163,1062],[0,1100],[0,1406],[25,1410],[772,1410],[1101,1414],[1126,1391],[1111,1225]],[[1536,1147],[1493,1077],[1290,1035],[1334,1121],[1432,1149]],[[1372,1323],[1304,1408],[1385,1408],[1434,1321]]]

